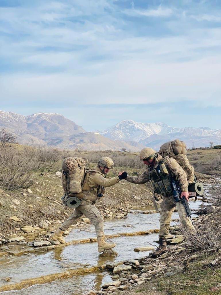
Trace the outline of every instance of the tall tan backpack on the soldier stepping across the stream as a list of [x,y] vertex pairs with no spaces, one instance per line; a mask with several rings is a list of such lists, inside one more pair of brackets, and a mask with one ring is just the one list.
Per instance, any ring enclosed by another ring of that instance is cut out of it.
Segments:
[[83,158],[66,158],[62,163],[62,186],[65,194],[82,199],[85,174],[86,162]]

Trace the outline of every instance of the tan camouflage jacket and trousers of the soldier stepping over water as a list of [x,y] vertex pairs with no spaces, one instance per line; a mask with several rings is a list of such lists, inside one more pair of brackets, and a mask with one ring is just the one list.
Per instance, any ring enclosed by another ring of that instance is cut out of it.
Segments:
[[90,222],[94,225],[97,237],[103,236],[103,218],[99,210],[95,207],[95,202],[98,200],[98,193],[104,193],[105,189],[101,187],[109,187],[120,181],[119,177],[113,177],[106,179],[103,177],[103,173],[95,166],[91,173],[87,173],[85,181],[83,183],[83,198],[80,200],[80,206],[75,208],[73,214],[65,220],[60,226],[60,229],[65,231],[72,224],[81,219],[83,215],[90,219]]

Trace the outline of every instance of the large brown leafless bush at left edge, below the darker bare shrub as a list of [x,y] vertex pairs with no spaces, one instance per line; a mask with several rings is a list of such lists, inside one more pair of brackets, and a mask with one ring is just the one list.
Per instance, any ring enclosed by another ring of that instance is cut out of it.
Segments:
[[33,177],[34,159],[25,150],[2,147],[0,153],[0,187],[6,189],[28,188],[35,179]]

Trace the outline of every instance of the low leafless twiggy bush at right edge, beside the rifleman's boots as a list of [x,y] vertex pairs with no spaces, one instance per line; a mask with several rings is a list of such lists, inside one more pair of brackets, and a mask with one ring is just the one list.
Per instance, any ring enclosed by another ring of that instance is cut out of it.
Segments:
[[194,233],[180,228],[185,236],[188,248],[205,252],[217,252],[221,249],[221,227],[216,222],[206,222],[200,228],[196,228]]

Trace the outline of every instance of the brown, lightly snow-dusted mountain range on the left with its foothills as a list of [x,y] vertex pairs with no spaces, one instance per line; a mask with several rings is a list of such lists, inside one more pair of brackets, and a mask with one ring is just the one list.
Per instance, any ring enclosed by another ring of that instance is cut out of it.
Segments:
[[141,150],[137,142],[111,140],[98,133],[86,132],[71,120],[56,113],[37,113],[22,116],[0,111],[0,129],[16,135],[23,144],[48,145],[57,148],[81,147],[85,150]]

